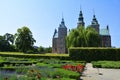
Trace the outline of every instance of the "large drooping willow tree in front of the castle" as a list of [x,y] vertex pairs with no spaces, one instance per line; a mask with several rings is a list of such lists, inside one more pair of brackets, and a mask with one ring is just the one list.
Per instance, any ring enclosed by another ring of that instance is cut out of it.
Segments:
[[67,47],[98,47],[100,36],[91,26],[72,29],[66,38]]

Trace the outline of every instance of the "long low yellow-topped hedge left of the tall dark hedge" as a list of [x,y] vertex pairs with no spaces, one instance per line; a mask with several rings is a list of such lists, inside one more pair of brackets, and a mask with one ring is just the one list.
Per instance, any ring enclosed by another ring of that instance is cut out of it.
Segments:
[[47,53],[47,54],[24,54],[20,52],[0,52],[0,56],[4,57],[17,57],[17,58],[44,58],[44,59],[63,59],[69,60],[69,54],[55,54],[55,53]]

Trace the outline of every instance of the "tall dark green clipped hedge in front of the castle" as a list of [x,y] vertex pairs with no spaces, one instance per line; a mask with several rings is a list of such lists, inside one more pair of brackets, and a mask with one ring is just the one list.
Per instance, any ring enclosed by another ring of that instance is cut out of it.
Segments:
[[72,47],[69,49],[72,60],[98,61],[120,60],[120,48]]

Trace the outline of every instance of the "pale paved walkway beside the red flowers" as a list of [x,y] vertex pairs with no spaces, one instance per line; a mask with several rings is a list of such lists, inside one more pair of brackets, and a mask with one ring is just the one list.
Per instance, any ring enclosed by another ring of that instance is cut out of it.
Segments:
[[120,69],[93,68],[87,63],[81,80],[120,80]]

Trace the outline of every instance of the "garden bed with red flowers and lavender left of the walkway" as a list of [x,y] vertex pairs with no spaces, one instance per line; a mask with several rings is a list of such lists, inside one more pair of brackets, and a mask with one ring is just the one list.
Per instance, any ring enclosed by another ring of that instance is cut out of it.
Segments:
[[[1,57],[0,80],[77,80],[85,61]],[[8,74],[11,72],[12,74]],[[14,78],[14,79],[13,79]]]

